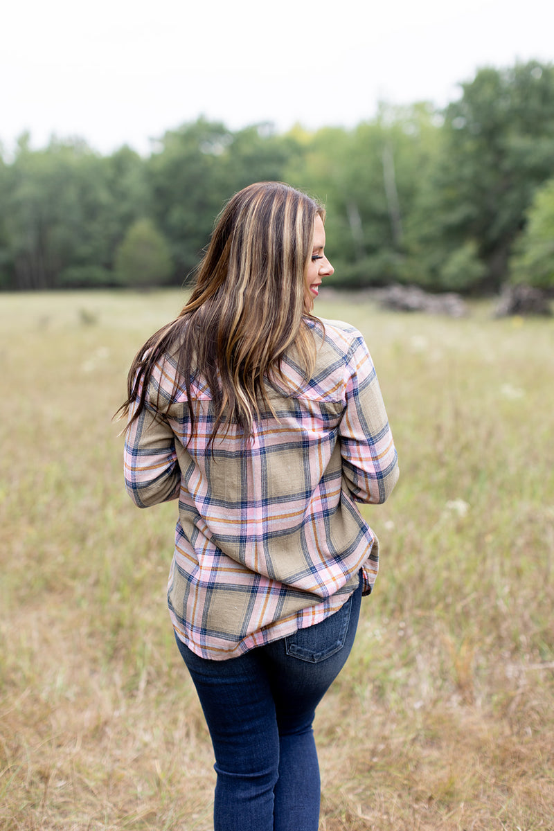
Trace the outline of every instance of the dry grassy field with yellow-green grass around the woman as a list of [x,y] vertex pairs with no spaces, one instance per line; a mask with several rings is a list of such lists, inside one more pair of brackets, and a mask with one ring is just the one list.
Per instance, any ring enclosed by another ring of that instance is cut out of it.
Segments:
[[[182,300],[0,294],[0,829],[211,828],[175,507],[130,503],[110,421]],[[401,471],[364,509],[380,577],[316,719],[321,831],[552,831],[554,323],[316,311],[364,332]]]

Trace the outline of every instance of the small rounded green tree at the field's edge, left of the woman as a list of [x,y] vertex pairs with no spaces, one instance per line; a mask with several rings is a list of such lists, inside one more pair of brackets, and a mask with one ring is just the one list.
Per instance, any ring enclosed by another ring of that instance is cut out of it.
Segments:
[[151,219],[137,219],[125,234],[115,255],[120,283],[151,288],[166,283],[173,272],[169,246]]

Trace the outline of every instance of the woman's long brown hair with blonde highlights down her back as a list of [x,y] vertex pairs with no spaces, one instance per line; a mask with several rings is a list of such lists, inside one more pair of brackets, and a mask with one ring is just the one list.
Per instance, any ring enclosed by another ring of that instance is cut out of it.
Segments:
[[169,354],[184,376],[191,433],[191,381],[203,376],[208,383],[215,409],[210,444],[219,428],[232,423],[248,440],[260,402],[271,408],[264,379],[281,374],[292,344],[311,375],[316,346],[302,318],[311,317],[304,273],[316,215],[325,219],[321,204],[281,182],[251,184],[228,201],[189,301],[135,356],[121,417],[129,416],[133,402],[132,420],[140,416],[154,366]]

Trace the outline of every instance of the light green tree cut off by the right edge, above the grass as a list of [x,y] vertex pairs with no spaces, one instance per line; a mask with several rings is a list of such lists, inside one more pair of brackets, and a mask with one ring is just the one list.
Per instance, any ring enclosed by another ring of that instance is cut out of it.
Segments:
[[554,179],[538,189],[510,261],[512,283],[554,288]]

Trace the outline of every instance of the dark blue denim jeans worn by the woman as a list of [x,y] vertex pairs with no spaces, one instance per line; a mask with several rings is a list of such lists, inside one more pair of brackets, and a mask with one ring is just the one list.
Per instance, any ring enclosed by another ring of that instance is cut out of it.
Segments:
[[321,623],[228,661],[201,658],[177,639],[215,754],[215,831],[317,831],[312,722],[351,651],[360,599],[361,580]]

